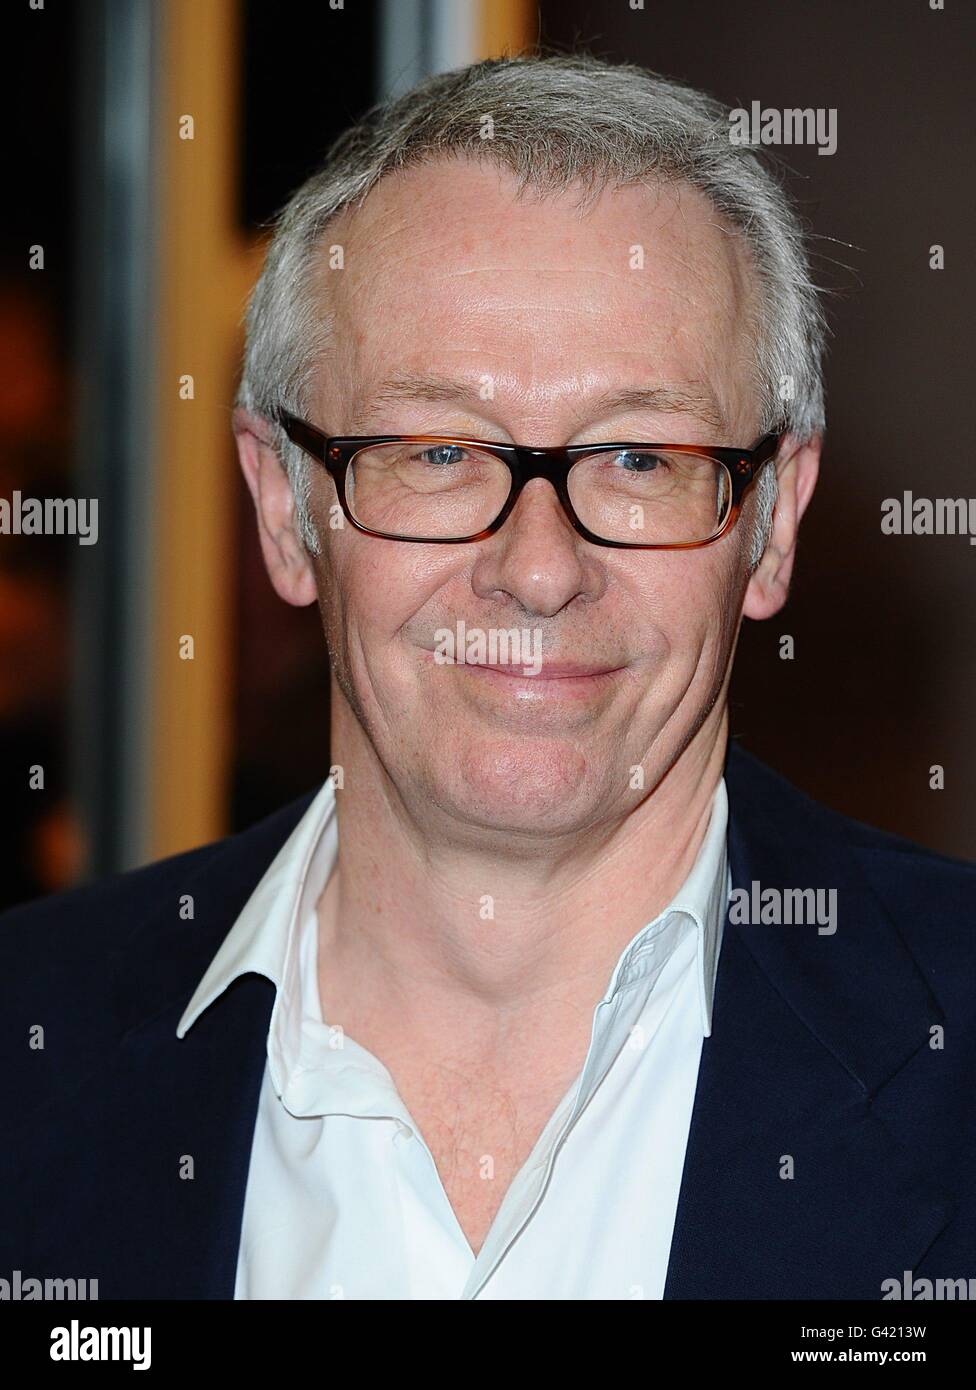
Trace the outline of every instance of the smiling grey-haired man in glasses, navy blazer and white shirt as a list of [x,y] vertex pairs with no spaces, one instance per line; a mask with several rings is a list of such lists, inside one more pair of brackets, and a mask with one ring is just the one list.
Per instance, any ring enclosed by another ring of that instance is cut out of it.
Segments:
[[334,767],[4,919],[7,1265],[378,1300],[976,1272],[976,870],[729,746],[822,342],[794,214],[701,93],[496,61],[339,143],[235,414]]

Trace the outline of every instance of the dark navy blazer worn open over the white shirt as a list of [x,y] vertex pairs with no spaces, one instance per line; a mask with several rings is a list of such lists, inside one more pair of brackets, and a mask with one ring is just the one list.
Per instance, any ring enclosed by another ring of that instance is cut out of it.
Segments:
[[[665,1297],[976,1276],[976,866],[836,815],[734,744],[726,781],[733,885],[836,888],[838,924],[726,922]],[[6,1277],[234,1297],[274,986],[242,977],[182,1041],[177,1023],[310,799],[0,916]]]

